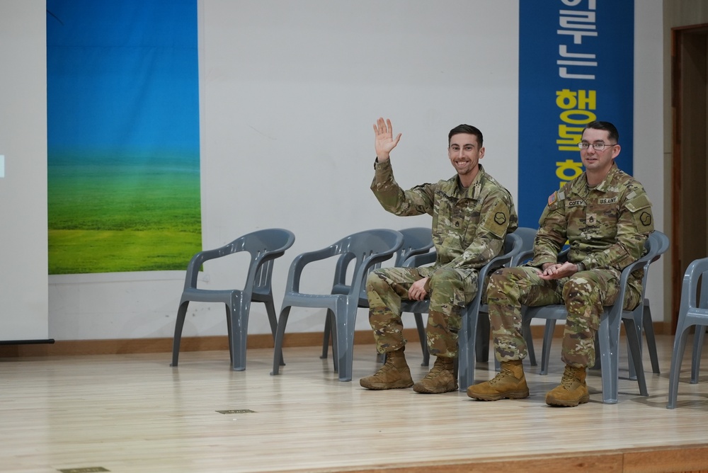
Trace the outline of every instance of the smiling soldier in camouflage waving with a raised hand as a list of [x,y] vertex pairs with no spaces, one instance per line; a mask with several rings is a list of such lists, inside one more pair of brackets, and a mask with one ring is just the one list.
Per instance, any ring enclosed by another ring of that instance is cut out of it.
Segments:
[[[433,216],[437,260],[430,267],[382,268],[367,278],[369,321],[377,350],[386,353],[387,360],[360,384],[367,389],[413,386],[422,393],[455,391],[453,360],[462,310],[476,295],[477,270],[502,251],[506,233],[518,227],[513,199],[479,164],[484,147],[475,127],[459,125],[448,135],[448,157],[457,176],[410,190],[396,183],[389,161],[401,135],[394,139],[391,121],[383,118],[374,131],[377,160],[371,189],[382,207],[395,215]],[[404,356],[401,299],[426,297],[428,347],[437,358],[428,375],[413,385]]]

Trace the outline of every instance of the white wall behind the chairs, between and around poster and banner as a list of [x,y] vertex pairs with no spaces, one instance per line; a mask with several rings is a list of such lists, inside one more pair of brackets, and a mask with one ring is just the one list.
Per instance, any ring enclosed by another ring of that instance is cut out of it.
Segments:
[[[392,155],[401,186],[452,176],[447,132],[467,122],[484,132],[482,164],[517,198],[518,2],[202,0],[199,7],[203,245],[291,229],[295,245],[275,263],[276,305],[297,253],[360,229],[430,225],[426,216],[387,214],[369,190],[379,115],[403,133]],[[661,176],[643,164],[661,164],[661,152],[652,154],[663,145],[661,74],[646,77],[655,63],[661,68],[661,1],[635,8],[634,169],[663,212]],[[329,291],[330,269],[314,268],[305,288]],[[207,267],[203,277],[208,287],[229,284],[224,268]],[[52,276],[50,335],[169,337],[182,284],[181,272]],[[321,331],[323,321],[324,312],[293,309],[288,332]],[[357,328],[368,329],[363,312]],[[269,332],[260,304],[249,332]],[[185,336],[225,333],[222,307],[193,304]]]

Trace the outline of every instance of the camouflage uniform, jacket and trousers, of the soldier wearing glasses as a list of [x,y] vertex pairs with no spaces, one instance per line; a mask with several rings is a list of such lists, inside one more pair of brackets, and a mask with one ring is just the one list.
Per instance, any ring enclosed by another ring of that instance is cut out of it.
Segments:
[[[487,298],[496,356],[501,361],[526,357],[521,335],[522,304],[565,304],[568,311],[561,358],[566,365],[591,367],[595,363],[595,332],[603,306],[619,293],[622,268],[641,258],[644,241],[653,232],[651,203],[632,176],[612,164],[607,176],[590,188],[586,173],[566,183],[549,198],[539,220],[534,258],[520,268],[498,270],[491,277]],[[543,280],[536,268],[556,263],[570,244],[568,261],[585,270],[569,278]],[[639,304],[642,270],[630,275],[624,307]]]

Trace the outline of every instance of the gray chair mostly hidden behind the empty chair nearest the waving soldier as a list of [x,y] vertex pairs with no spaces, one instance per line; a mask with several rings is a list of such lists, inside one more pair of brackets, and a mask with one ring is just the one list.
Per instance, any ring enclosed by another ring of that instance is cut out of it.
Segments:
[[[433,248],[433,232],[426,227],[411,227],[399,230],[403,235],[403,244],[396,251],[394,266],[403,266],[403,263],[418,254],[428,253]],[[349,263],[354,258],[352,253],[345,253],[337,260],[337,266],[334,270],[334,282],[332,284],[332,294],[346,294],[349,291],[350,283],[347,283],[347,269]],[[380,263],[372,266],[371,270],[378,268]],[[368,274],[368,273],[367,273]],[[364,280],[366,283],[366,279]],[[361,294],[359,295],[358,307],[367,309],[369,300],[366,295],[365,284],[361,286]],[[327,317],[324,322],[324,334],[322,336],[322,355],[321,359],[327,358],[329,352],[329,341],[331,338],[331,317]],[[418,329],[418,338],[421,340],[421,349],[423,350],[423,366],[428,366],[430,354],[428,353],[428,344],[426,343],[426,326],[423,324],[421,314],[416,314],[416,328]],[[332,349],[334,345],[332,345]],[[337,356],[332,352],[334,360],[334,369],[337,369]]]

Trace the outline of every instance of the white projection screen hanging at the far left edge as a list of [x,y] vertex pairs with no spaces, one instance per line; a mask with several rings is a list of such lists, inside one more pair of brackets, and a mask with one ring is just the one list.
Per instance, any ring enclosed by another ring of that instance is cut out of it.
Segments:
[[0,0],[0,341],[46,339],[44,0]]

